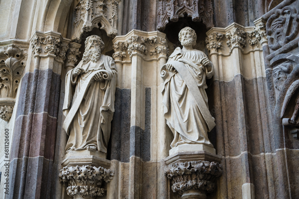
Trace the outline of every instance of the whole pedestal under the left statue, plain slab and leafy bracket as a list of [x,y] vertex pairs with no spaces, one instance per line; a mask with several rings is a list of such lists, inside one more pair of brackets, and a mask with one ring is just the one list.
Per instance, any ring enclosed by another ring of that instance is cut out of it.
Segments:
[[[97,153],[88,150],[85,152]],[[59,177],[65,183],[66,193],[74,199],[95,199],[105,195],[107,183],[114,176],[114,171],[110,169],[111,161],[95,155],[75,154],[72,156],[72,152],[68,152],[61,163],[63,168],[60,169]]]

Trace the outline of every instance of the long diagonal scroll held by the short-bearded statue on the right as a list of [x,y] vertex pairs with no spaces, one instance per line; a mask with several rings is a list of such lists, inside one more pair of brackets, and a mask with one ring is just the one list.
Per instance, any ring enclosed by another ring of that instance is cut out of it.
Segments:
[[185,84],[187,85],[188,89],[190,90],[190,93],[191,93],[192,97],[194,98],[194,101],[196,102],[196,104],[199,108],[199,111],[202,114],[202,117],[205,119],[205,121],[208,125],[208,129],[211,130],[215,127],[214,118],[210,114],[210,111],[209,111],[207,105],[205,104],[205,100],[202,97],[193,76],[191,75],[189,70],[184,65],[184,62],[187,62],[186,64],[189,64],[189,65],[191,63],[187,60],[185,61],[184,59],[179,59],[179,60],[180,61],[170,61],[170,62],[167,62],[167,64],[173,65],[173,67],[179,72],[179,74],[183,78]]

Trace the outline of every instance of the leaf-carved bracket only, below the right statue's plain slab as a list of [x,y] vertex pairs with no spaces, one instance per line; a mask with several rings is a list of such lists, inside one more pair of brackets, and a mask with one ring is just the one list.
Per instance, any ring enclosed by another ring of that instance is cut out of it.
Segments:
[[171,180],[171,189],[183,199],[206,198],[215,189],[216,178],[222,175],[222,165],[209,161],[179,162],[164,168]]

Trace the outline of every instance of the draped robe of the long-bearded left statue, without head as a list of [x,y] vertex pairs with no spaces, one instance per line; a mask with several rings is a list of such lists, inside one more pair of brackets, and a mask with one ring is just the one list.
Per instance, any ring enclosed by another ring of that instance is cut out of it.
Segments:
[[[63,129],[69,135],[65,150],[83,150],[97,146],[100,152],[107,152],[111,121],[114,113],[117,71],[113,59],[100,55],[94,63],[83,65],[84,73],[73,77],[74,69],[68,71],[65,79],[63,113],[66,116]],[[98,70],[110,72],[111,79],[102,82],[94,80]]]

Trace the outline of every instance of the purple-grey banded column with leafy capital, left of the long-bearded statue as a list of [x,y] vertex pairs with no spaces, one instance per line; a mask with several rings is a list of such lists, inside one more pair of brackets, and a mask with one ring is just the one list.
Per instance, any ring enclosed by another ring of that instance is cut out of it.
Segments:
[[9,174],[14,186],[8,198],[50,197],[60,75],[69,42],[53,31],[36,31],[31,38],[32,53],[28,55],[16,110]]

